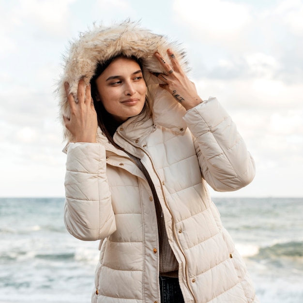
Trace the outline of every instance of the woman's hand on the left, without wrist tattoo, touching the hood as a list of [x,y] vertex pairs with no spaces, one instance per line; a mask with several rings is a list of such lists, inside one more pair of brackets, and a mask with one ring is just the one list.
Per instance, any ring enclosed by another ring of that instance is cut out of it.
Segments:
[[69,84],[66,82],[65,91],[70,106],[71,116],[63,116],[65,127],[74,136],[75,142],[96,142],[98,127],[97,113],[91,98],[91,85],[86,85],[81,79],[78,83],[76,103],[74,96],[69,93]]

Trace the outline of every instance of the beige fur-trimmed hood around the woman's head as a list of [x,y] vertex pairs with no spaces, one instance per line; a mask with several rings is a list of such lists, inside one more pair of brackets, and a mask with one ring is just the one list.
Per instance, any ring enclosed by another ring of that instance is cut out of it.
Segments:
[[169,62],[168,48],[173,50],[183,70],[187,72],[188,63],[181,45],[169,41],[163,35],[154,34],[142,28],[138,22],[127,20],[110,27],[94,24],[91,30],[80,33],[79,37],[70,43],[70,49],[64,57],[65,65],[57,89],[64,138],[73,141],[62,119],[63,116],[70,116],[64,83],[69,83],[70,92],[76,96],[78,81],[83,78],[86,83],[89,83],[97,64],[118,54],[134,55],[142,60],[154,123],[171,128],[178,133],[180,129],[185,129],[186,124],[182,119],[185,109],[167,91],[159,88],[160,82],[150,74],[150,72],[164,73],[154,53],[158,51]]

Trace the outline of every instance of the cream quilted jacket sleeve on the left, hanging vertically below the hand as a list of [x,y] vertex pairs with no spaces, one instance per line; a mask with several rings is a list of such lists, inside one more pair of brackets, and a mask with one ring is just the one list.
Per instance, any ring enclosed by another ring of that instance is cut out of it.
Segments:
[[64,223],[74,237],[101,240],[116,230],[101,144],[68,145],[64,184]]

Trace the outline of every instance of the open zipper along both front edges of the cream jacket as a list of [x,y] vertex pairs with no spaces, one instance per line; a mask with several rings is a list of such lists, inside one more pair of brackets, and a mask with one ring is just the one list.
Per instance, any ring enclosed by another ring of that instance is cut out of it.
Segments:
[[[124,138],[124,140],[125,140],[125,138]],[[126,140],[126,141],[128,141],[128,140]],[[132,144],[131,142],[129,142],[129,141],[128,141],[128,143],[130,143],[131,145],[133,145],[133,144]],[[133,146],[134,146],[134,145],[133,145]],[[173,213],[171,212],[171,210],[170,210],[170,208],[169,208],[169,206],[168,206],[167,198],[166,198],[166,195],[165,195],[165,192],[164,192],[164,188],[163,188],[163,184],[162,184],[162,182],[161,182],[161,178],[160,178],[158,172],[156,171],[156,169],[155,169],[155,167],[154,167],[154,164],[153,164],[153,161],[152,161],[152,158],[150,157],[150,155],[149,155],[147,152],[145,152],[141,147],[138,147],[138,146],[134,146],[134,147],[140,149],[142,152],[144,152],[144,153],[149,157],[149,159],[150,159],[150,161],[151,161],[151,163],[152,163],[152,169],[153,169],[154,173],[156,174],[156,176],[157,176],[157,178],[158,178],[158,180],[159,180],[159,182],[160,182],[160,186],[161,186],[161,191],[162,191],[162,195],[163,195],[163,198],[164,198],[164,202],[165,202],[165,205],[166,205],[166,207],[167,207],[167,209],[168,209],[168,211],[169,211],[169,213],[170,213],[170,215],[171,215],[171,220],[172,220],[173,227],[174,227],[174,228],[173,228],[173,233],[174,233],[174,236],[175,236],[175,238],[176,238],[177,244],[178,244],[178,246],[179,246],[179,248],[180,248],[180,250],[181,250],[181,252],[182,252],[182,255],[183,255],[184,259],[185,259],[185,278],[186,278],[186,284],[187,284],[187,287],[188,287],[189,291],[191,292],[191,294],[192,294],[192,296],[193,296],[193,298],[194,298],[194,301],[197,302],[196,296],[195,296],[195,294],[194,294],[194,292],[193,292],[193,290],[192,290],[192,288],[191,288],[191,286],[190,286],[190,284],[189,284],[188,273],[187,273],[187,272],[188,272],[187,258],[186,258],[186,256],[185,256],[185,253],[183,252],[182,247],[181,247],[181,245],[180,245],[180,243],[179,243],[179,240],[178,240],[178,236],[177,236],[177,232],[176,232],[176,227],[175,227],[175,217],[174,217]],[[119,156],[119,157],[122,157],[122,158],[125,158],[125,159],[129,159],[129,160],[131,160],[133,163],[135,163],[136,166],[137,166],[138,168],[140,168],[140,167],[137,165],[136,161],[133,160],[131,157],[119,155],[118,153],[113,152],[113,151],[111,151],[111,150],[108,150],[108,152],[112,152],[113,154],[115,154],[115,155],[117,155],[117,156]],[[162,213],[163,213],[163,211],[162,211]]]

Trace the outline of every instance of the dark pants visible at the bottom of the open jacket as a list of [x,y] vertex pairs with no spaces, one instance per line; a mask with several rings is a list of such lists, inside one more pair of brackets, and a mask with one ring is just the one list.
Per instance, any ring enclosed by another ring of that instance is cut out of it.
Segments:
[[161,303],[184,303],[178,278],[159,277]]

